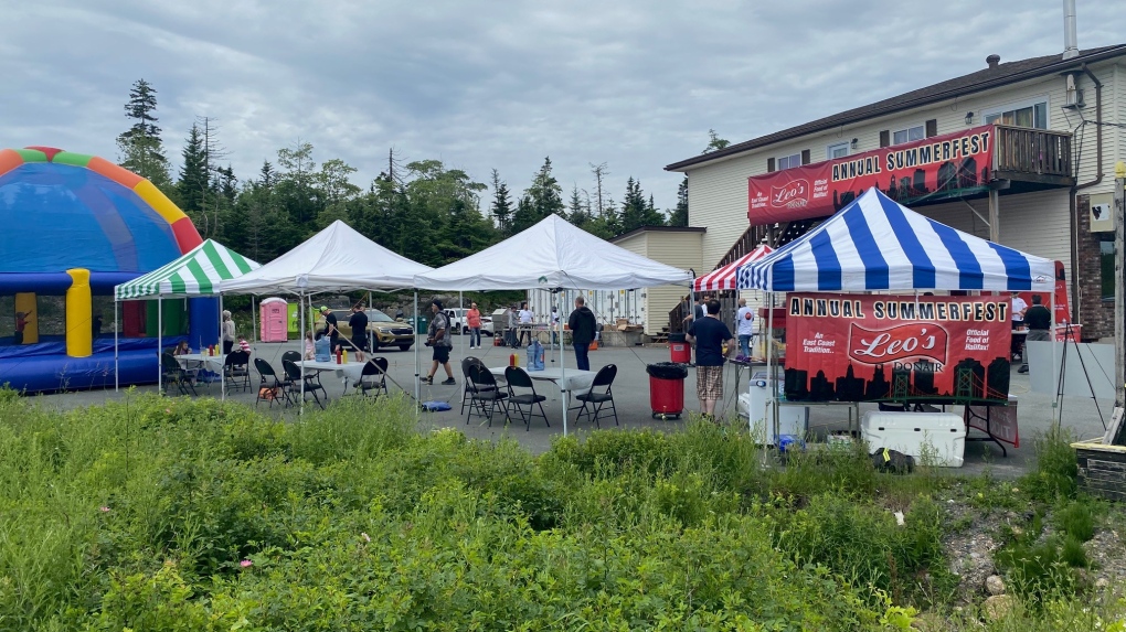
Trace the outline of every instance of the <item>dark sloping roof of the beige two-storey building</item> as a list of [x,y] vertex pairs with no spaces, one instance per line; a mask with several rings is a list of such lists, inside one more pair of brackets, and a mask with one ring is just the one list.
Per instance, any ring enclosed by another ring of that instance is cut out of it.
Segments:
[[1061,53],[1044,57],[1033,57],[1030,60],[998,64],[995,67],[986,67],[977,72],[972,72],[963,76],[942,81],[941,83],[912,90],[911,92],[904,92],[903,94],[892,97],[891,99],[876,101],[875,103],[869,103],[867,106],[854,108],[840,114],[826,116],[825,118],[820,118],[796,127],[790,127],[789,129],[783,129],[781,132],[775,132],[774,134],[729,145],[720,151],[674,162],[664,169],[665,171],[683,171],[689,166],[724,156],[740,154],[750,150],[765,147],[783,141],[789,141],[799,136],[805,136],[806,134],[825,132],[842,125],[861,123],[877,116],[917,108],[928,103],[951,99],[954,97],[972,94],[982,90],[989,90],[991,88],[998,88],[1009,83],[1017,83],[1019,81],[1058,73],[1065,70],[1074,70],[1081,64],[1093,63],[1118,55],[1126,55],[1126,44],[1082,51],[1078,56],[1066,61],[1063,60],[1063,54]]

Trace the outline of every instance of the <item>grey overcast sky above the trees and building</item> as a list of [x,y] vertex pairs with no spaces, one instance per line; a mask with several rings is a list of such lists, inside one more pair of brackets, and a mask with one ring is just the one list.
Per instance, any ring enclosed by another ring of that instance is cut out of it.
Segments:
[[[1079,0],[1080,48],[1126,42],[1119,2]],[[366,184],[394,147],[522,191],[607,163],[661,208],[714,128],[745,141],[1002,61],[1060,53],[1058,0],[647,2],[0,0],[0,147],[117,160],[144,78],[173,169],[196,116],[240,179],[298,138]],[[175,177],[175,173],[173,173]]]

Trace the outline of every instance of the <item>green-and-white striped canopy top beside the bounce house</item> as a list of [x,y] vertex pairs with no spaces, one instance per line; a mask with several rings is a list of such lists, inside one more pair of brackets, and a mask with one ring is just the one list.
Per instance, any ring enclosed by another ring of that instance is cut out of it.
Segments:
[[117,300],[163,297],[184,298],[218,294],[220,283],[236,279],[258,263],[207,240],[180,259],[114,288]]

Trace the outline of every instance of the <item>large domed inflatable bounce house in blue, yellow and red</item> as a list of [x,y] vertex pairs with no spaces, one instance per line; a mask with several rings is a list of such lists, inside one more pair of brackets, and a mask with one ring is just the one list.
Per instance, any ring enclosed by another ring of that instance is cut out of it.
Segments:
[[162,318],[154,300],[113,301],[114,286],[203,241],[144,178],[51,147],[0,150],[0,385],[38,392],[111,387],[115,377],[155,382],[161,320],[166,344],[217,342],[214,298],[163,301]]

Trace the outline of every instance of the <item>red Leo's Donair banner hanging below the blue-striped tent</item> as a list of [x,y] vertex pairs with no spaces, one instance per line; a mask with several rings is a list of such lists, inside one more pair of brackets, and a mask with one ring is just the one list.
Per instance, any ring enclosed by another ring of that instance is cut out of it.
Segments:
[[1007,400],[1008,296],[792,294],[786,398]]

